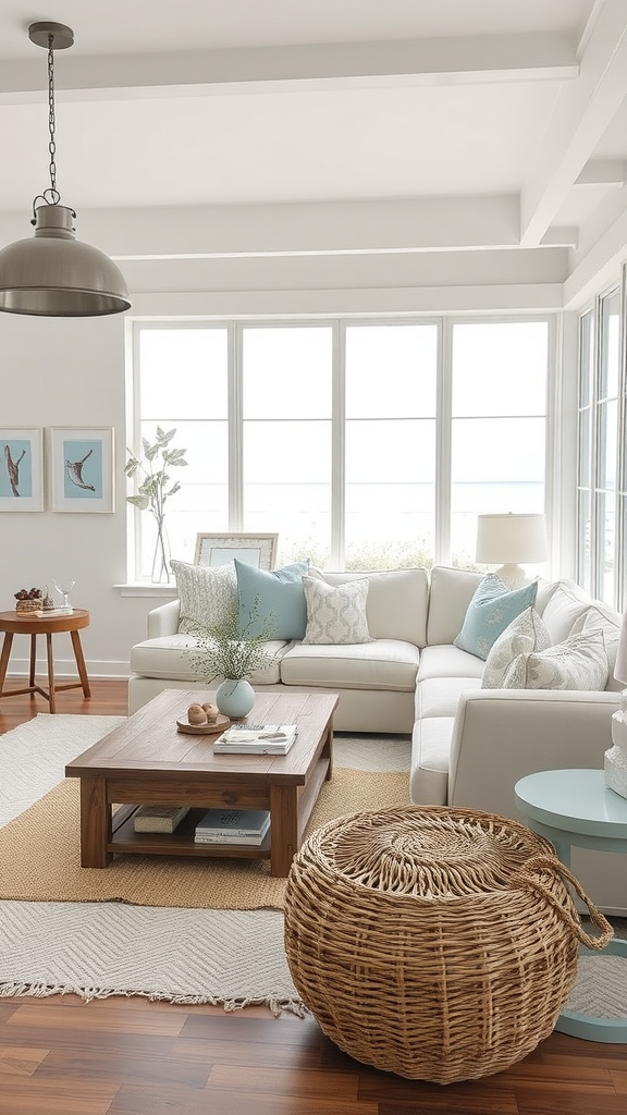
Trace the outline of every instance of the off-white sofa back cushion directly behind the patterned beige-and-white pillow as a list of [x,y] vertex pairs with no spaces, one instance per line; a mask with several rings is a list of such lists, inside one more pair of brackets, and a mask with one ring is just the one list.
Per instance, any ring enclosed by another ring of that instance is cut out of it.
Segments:
[[386,570],[383,573],[327,573],[311,566],[309,576],[327,584],[368,579],[366,618],[373,639],[399,639],[415,647],[426,643],[428,575],[424,569]]

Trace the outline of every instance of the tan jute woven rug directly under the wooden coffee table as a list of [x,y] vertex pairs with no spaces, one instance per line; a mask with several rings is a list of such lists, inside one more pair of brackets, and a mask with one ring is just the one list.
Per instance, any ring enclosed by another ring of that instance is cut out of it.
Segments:
[[[346,813],[409,804],[407,773],[336,767],[306,832]],[[0,830],[0,899],[133,902],[179,909],[282,909],[286,880],[267,860],[118,855],[80,866],[79,779],[67,778]]]

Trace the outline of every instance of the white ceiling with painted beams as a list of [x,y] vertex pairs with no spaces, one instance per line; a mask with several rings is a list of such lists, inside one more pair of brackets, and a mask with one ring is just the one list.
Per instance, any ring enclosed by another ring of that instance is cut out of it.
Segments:
[[[0,214],[20,221],[49,185],[39,19],[75,33],[56,140],[79,213],[263,206],[279,254],[339,254],[347,205],[373,203],[366,250],[549,252],[561,281],[621,227],[626,0],[0,0]],[[271,250],[241,239],[218,246]]]

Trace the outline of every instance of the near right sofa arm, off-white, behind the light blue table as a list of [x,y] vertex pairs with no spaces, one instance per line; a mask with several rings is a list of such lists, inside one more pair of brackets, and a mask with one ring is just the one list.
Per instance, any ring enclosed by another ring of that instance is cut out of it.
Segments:
[[448,805],[519,818],[514,785],[538,770],[602,768],[618,692],[473,689],[451,741]]

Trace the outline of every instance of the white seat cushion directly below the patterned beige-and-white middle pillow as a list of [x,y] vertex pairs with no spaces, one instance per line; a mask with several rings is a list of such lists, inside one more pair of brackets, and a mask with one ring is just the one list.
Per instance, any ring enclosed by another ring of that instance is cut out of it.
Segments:
[[419,651],[399,639],[343,647],[296,643],[281,658],[281,681],[327,689],[397,689],[413,692]]

